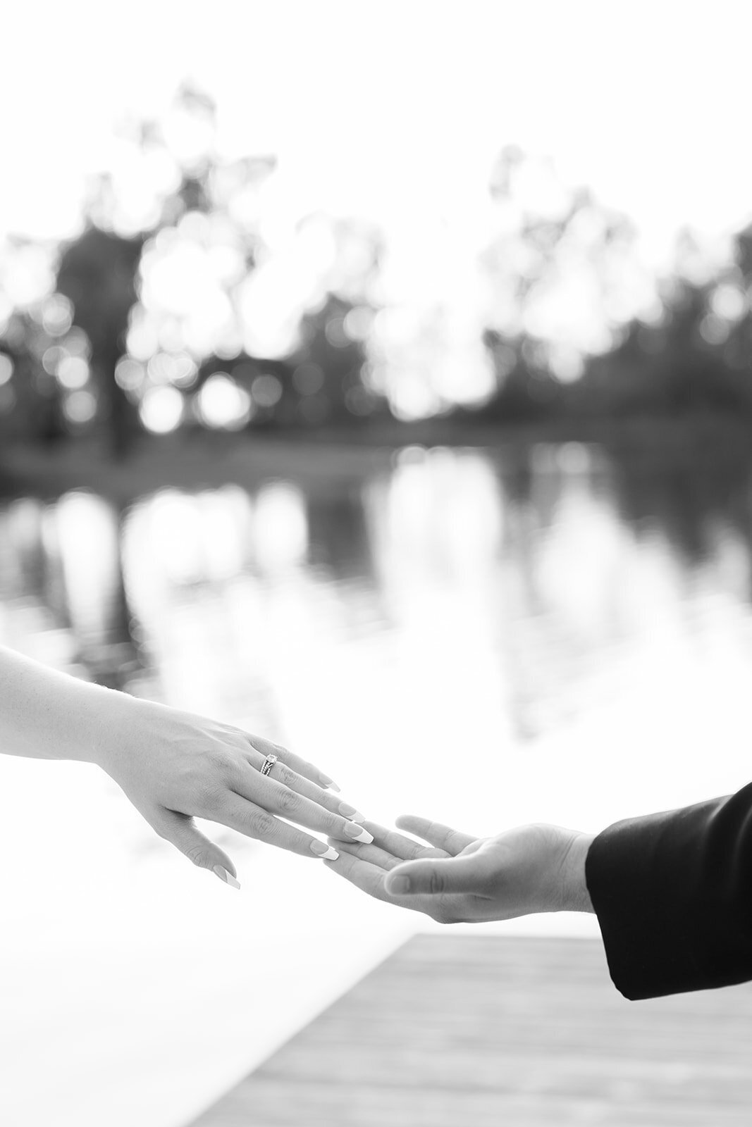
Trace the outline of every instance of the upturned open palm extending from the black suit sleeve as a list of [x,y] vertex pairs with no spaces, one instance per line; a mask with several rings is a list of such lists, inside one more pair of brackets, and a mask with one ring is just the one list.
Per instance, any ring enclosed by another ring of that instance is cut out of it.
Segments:
[[398,818],[401,829],[428,842],[425,846],[365,825],[373,843],[338,845],[339,857],[327,866],[377,899],[440,923],[593,911],[585,884],[589,834],[536,824],[474,837],[427,818]]

